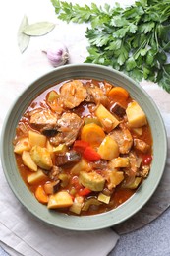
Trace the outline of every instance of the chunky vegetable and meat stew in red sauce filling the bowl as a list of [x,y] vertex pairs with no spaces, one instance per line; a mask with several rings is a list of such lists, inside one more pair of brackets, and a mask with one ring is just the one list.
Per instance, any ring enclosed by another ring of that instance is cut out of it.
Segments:
[[94,215],[137,191],[150,171],[152,144],[146,113],[126,89],[75,79],[30,103],[14,153],[28,189],[49,211]]

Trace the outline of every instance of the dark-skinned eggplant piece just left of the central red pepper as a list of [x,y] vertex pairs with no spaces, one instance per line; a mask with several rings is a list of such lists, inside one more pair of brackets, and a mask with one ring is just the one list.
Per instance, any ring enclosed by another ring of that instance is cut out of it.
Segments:
[[70,164],[75,164],[81,160],[81,154],[76,151],[66,152],[62,155],[55,155],[55,164],[57,166],[67,166]]

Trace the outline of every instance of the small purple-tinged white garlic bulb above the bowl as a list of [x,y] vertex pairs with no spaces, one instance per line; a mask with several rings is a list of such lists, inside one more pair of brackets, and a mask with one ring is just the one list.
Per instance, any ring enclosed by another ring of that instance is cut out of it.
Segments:
[[60,41],[53,42],[43,50],[46,53],[49,62],[53,67],[64,65],[69,60],[69,52],[67,47]]

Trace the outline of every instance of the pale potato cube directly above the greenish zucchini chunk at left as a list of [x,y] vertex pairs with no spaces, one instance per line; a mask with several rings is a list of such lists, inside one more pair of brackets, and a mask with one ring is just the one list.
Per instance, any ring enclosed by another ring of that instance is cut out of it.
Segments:
[[46,145],[46,136],[43,134],[28,131],[28,139],[31,146],[38,145],[40,147],[45,147]]

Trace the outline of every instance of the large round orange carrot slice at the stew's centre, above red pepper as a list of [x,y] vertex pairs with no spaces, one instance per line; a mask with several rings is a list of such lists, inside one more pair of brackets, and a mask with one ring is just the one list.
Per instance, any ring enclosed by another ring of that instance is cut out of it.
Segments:
[[104,138],[103,129],[95,123],[86,124],[81,131],[81,140],[88,142],[91,147],[98,147]]

